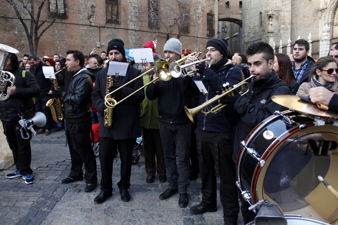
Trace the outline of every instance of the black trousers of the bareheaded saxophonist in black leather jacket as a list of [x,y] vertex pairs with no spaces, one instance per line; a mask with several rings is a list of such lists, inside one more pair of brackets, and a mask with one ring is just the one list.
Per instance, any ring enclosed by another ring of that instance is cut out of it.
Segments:
[[91,120],[82,123],[70,123],[67,120],[66,135],[72,161],[69,176],[81,180],[83,178],[82,165],[84,164],[86,184],[97,184],[96,158],[90,138],[91,129]]

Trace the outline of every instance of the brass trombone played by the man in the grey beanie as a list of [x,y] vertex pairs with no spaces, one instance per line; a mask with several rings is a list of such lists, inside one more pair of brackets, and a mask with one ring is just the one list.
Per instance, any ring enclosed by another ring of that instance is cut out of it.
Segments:
[[[185,57],[183,57],[182,59],[179,59],[177,60],[176,62],[177,63],[184,63],[187,58],[189,56],[192,56],[192,55],[196,55],[197,52],[193,52]],[[168,81],[171,79],[171,75],[169,73],[169,61],[166,60],[166,59],[159,59],[155,62],[154,64],[154,67],[151,68],[150,70],[144,72],[143,74],[141,74],[140,76],[132,79],[131,81],[128,81],[127,83],[125,83],[124,85],[122,85],[121,87],[115,89],[114,91],[106,94],[104,96],[104,104],[106,107],[110,107],[110,108],[113,108],[115,107],[116,105],[118,105],[119,103],[123,102],[124,100],[126,100],[128,97],[130,97],[131,95],[135,94],[136,92],[138,92],[139,90],[143,89],[144,87],[148,86],[149,84],[151,84],[152,82],[154,82],[155,80],[162,80],[162,81]],[[129,94],[128,96],[126,96],[124,99],[120,100],[119,102],[117,102],[115,99],[113,99],[112,97],[109,97],[110,95],[112,96],[116,91],[118,91],[119,89],[121,89],[122,87],[130,84],[131,82],[135,81],[136,79],[139,79],[141,77],[143,77],[144,75],[146,75],[149,71],[153,70],[156,75],[157,75],[157,78],[153,79],[152,81],[150,81],[149,83],[143,85],[142,87],[140,87],[139,89],[137,89],[136,91],[132,92],[131,94]]]

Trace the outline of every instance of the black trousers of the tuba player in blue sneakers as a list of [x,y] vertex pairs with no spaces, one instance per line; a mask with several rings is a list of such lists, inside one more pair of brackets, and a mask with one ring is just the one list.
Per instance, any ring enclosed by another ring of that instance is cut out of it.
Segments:
[[[4,121],[2,121],[2,126],[9,148],[13,152],[16,168],[20,171],[21,175],[32,174],[33,171],[30,168],[30,162],[32,159],[30,139],[32,138],[32,133],[28,130],[30,138],[28,140],[24,140],[22,139],[19,131],[19,127],[21,128],[19,123],[4,124]],[[24,135],[24,137],[26,137],[26,132],[24,132]]]

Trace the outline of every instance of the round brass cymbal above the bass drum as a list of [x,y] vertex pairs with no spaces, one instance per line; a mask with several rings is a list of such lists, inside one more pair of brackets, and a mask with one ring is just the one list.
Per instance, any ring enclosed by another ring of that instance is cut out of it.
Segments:
[[338,118],[338,113],[336,111],[319,109],[316,104],[308,103],[296,95],[278,94],[273,95],[271,100],[279,105],[305,114]]

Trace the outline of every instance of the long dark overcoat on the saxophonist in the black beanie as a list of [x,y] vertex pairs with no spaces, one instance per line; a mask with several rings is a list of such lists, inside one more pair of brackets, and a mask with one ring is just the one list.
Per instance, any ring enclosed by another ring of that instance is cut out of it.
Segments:
[[[107,73],[108,67],[100,70],[96,75],[95,87],[93,90],[93,104],[95,108],[100,112],[100,137],[113,138],[115,140],[119,139],[129,139],[129,138],[138,138],[140,137],[141,125],[141,110],[140,103],[144,99],[144,88],[143,79],[136,79],[134,82],[129,83],[122,88],[121,99],[128,96],[132,92],[141,88],[135,94],[128,97],[122,103],[118,104],[113,109],[113,123],[110,127],[104,126],[104,96],[106,95],[107,89]],[[117,81],[114,82],[114,85],[117,87],[122,86],[128,81],[141,75],[141,71],[128,65],[127,73],[125,77],[119,76]]]

